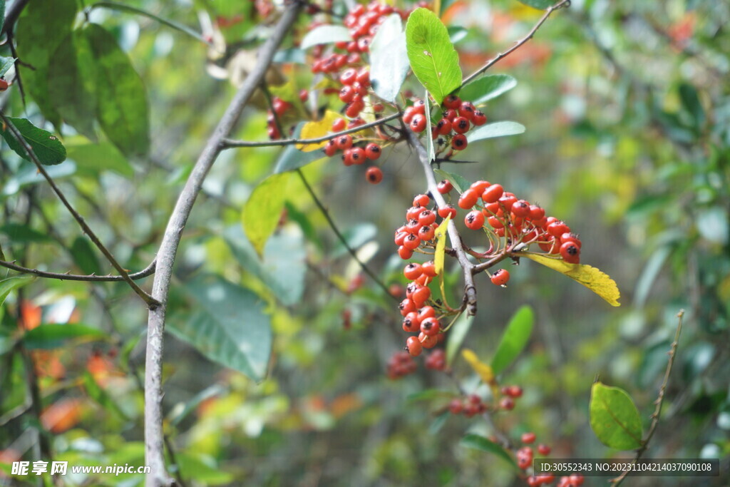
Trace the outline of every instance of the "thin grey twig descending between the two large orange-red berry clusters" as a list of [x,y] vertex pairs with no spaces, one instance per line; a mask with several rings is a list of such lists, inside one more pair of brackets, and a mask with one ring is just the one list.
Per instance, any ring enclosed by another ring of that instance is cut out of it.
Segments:
[[[408,143],[418,153],[418,159],[420,160],[421,166],[423,166],[423,172],[426,175],[426,182],[428,183],[429,191],[431,196],[434,197],[436,204],[439,208],[445,207],[446,202],[436,183],[436,177],[434,177],[434,170],[431,168],[431,161],[429,161],[429,155],[426,153],[426,148],[420,143],[418,136],[411,130],[406,130],[406,137]],[[466,250],[461,242],[461,235],[459,235],[456,229],[456,223],[453,220],[449,221],[447,226],[449,233],[449,239],[454,251],[456,251],[456,258],[458,259],[459,265],[464,269],[464,304],[462,309],[466,309],[467,315],[477,314],[477,288],[474,285],[474,274],[475,266],[472,261],[469,261],[469,257],[466,256]]]

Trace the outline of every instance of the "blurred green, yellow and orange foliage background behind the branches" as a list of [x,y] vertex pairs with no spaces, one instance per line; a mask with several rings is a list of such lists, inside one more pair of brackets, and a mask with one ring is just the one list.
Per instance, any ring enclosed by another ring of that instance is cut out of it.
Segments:
[[[270,25],[254,2],[126,3],[204,33],[215,31],[244,48],[266,37]],[[115,256],[128,269],[142,269],[154,258],[177,193],[234,87],[210,75],[220,74],[212,67],[218,61],[196,39],[127,12],[93,9],[90,15],[115,34],[145,82],[150,155],[122,156],[113,168],[104,163],[107,156],[91,162],[69,156],[72,161],[56,166],[55,177]],[[466,28],[456,46],[468,73],[526,34],[539,15],[516,1],[458,0],[443,19]],[[470,145],[461,158],[475,164],[444,165],[469,180],[502,183],[568,221],[585,245],[582,262],[599,267],[621,288],[622,305],[613,308],[529,261],[510,268],[507,289],[477,278],[479,313],[466,346],[480,357],[491,356],[521,304],[530,304],[536,314],[529,348],[502,377],[502,383],[522,386],[524,396],[512,413],[497,415],[496,423],[515,439],[536,432],[540,442],[553,446],[555,458],[631,454],[604,447],[591,432],[591,383],[599,376],[629,391],[648,425],[675,315],[684,309],[677,362],[648,456],[719,457],[727,479],[728,25],[730,5],[715,0],[572,1],[490,70],[519,83],[490,101],[485,113],[490,120],[523,123],[526,133]],[[306,27],[302,20],[296,30],[303,34]],[[279,69],[300,88],[312,80],[305,64]],[[15,86],[2,104],[13,116],[42,123],[37,105],[28,99],[23,107]],[[68,147],[87,142],[69,126],[62,134]],[[235,136],[266,139],[261,107],[245,111]],[[187,485],[511,485],[515,476],[506,463],[459,445],[466,432],[489,434],[488,425],[463,417],[434,421],[449,395],[409,399],[431,388],[456,394],[450,377],[426,370],[422,360],[414,375],[386,377],[386,362],[403,342],[393,332],[400,315],[360,275],[299,183],[288,189],[287,218],[267,244],[266,272],[251,263],[241,209],[278,153],[224,152],[183,236],[169,304],[173,333],[166,340],[164,386],[176,475]],[[57,272],[109,272],[95,250],[77,241],[76,223],[34,176],[35,169],[7,145],[1,156],[0,243],[7,258]],[[361,168],[343,168],[334,160],[318,161],[304,172],[374,272],[388,285],[403,285],[392,234],[425,183],[407,149],[386,150],[383,161],[385,179],[377,186],[365,183]],[[175,330],[199,312],[195,286],[205,275],[253,291],[270,313],[272,358],[261,383],[176,337]],[[272,275],[273,284],[267,281]],[[460,288],[453,269],[454,296]],[[345,310],[350,323],[344,323]],[[128,287],[37,280],[11,294],[0,312],[0,459],[33,461],[47,450],[72,464],[143,464],[139,377],[146,310]],[[19,328],[66,322],[104,336],[44,350],[26,344],[22,353],[6,346]],[[31,362],[40,404],[29,399]],[[461,360],[453,374],[476,384]],[[0,473],[0,485],[12,485],[9,466],[1,469],[6,475]],[[134,486],[142,478],[66,482]]]

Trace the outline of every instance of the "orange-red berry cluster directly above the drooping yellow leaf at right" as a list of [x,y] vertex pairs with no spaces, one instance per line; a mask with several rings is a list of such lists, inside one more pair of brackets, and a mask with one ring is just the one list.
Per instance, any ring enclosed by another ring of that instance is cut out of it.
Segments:
[[[580,262],[580,239],[564,221],[546,217],[542,207],[518,199],[502,185],[477,181],[461,193],[458,207],[470,210],[464,217],[468,229],[487,229],[496,237],[507,237],[512,247],[523,244],[520,250],[537,243],[547,253],[559,253],[569,264]],[[509,279],[509,274],[506,277]]]

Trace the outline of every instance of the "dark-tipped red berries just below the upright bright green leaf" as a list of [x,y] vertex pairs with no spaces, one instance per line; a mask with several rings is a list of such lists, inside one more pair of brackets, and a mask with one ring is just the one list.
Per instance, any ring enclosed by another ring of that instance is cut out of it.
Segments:
[[[466,132],[472,126],[487,122],[487,116],[477,110],[471,101],[461,101],[456,95],[449,95],[441,104],[442,118],[431,129],[431,138],[437,141],[437,152],[450,145],[453,150],[464,150],[468,142]],[[426,101],[416,100],[403,112],[403,123],[417,134],[426,130]]]

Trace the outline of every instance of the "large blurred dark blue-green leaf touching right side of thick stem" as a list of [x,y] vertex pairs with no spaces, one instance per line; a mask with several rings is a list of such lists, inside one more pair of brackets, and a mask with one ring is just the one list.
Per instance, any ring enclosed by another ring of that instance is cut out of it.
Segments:
[[168,329],[204,356],[225,367],[263,380],[272,348],[269,316],[264,302],[223,277],[204,275],[185,284],[197,305],[186,320],[173,320]]

